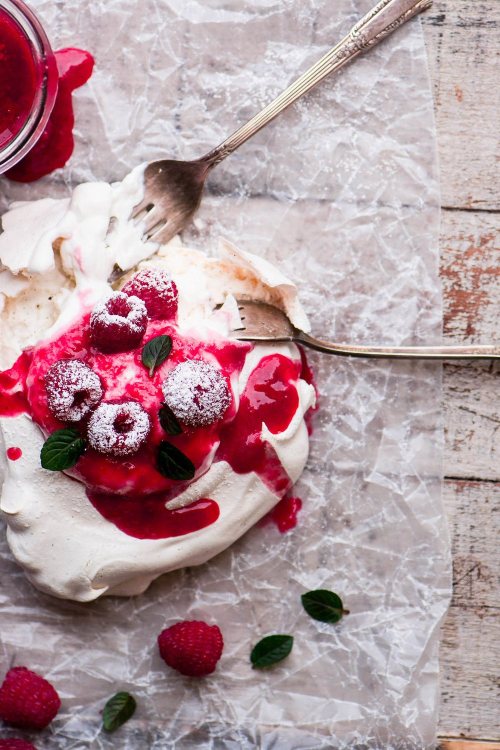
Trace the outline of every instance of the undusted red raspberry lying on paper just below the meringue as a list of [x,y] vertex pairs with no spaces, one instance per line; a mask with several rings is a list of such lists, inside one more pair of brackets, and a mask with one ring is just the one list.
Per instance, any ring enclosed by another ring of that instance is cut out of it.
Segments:
[[169,667],[189,677],[203,677],[215,670],[224,641],[217,625],[184,620],[162,630],[158,646]]

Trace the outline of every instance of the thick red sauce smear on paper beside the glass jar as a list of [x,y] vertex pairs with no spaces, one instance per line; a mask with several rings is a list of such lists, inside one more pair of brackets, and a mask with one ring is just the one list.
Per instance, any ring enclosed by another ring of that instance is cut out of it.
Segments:
[[16,182],[33,182],[40,177],[63,167],[73,153],[73,90],[90,78],[94,58],[80,49],[61,49],[55,52],[59,72],[59,88],[49,121],[26,156],[12,169],[7,177]]

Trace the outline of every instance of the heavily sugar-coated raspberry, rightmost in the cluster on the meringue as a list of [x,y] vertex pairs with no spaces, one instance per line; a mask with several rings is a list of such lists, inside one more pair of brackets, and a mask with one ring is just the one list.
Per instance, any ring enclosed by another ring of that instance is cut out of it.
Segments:
[[177,419],[191,427],[213,424],[231,403],[224,375],[200,359],[177,365],[165,378],[162,390]]

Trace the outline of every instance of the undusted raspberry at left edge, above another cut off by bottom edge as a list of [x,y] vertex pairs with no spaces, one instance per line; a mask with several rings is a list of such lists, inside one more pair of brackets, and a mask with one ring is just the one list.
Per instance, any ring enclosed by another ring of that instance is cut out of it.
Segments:
[[26,667],[13,667],[0,687],[0,719],[23,729],[44,729],[61,701],[43,677]]

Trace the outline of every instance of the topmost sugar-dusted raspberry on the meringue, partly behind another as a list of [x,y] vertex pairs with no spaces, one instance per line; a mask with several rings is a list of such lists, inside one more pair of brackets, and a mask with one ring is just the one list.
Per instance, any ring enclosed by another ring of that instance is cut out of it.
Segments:
[[160,268],[145,268],[127,281],[122,289],[142,299],[148,315],[155,320],[175,318],[178,292],[170,274]]

